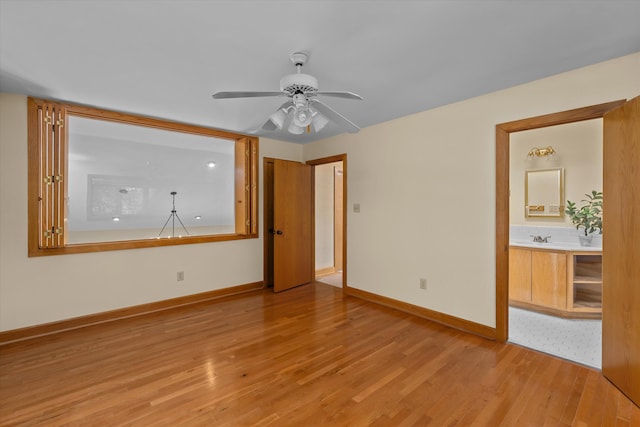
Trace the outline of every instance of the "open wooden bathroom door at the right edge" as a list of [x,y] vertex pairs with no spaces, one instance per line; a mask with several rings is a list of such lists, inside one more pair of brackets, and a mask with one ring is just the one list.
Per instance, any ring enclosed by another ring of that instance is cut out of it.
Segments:
[[604,115],[602,373],[640,405],[640,97]]

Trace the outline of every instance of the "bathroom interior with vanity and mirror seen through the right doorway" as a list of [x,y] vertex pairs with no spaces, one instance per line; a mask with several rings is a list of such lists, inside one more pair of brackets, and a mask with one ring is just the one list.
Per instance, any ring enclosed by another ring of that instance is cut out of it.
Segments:
[[596,369],[602,239],[580,246],[565,209],[567,200],[580,204],[585,194],[602,191],[602,122],[514,132],[509,139],[509,341]]

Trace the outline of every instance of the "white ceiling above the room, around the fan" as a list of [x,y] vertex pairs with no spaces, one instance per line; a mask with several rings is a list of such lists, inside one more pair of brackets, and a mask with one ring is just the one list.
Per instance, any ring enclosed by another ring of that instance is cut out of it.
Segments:
[[366,127],[639,52],[639,21],[638,0],[0,0],[0,90],[253,133],[283,99],[211,94],[278,91],[305,51]]

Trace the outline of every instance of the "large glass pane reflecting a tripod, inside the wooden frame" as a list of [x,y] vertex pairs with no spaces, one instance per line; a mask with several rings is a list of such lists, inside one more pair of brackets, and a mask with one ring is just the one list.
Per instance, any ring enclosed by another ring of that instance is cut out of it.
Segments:
[[155,239],[174,191],[190,235],[235,232],[235,141],[78,116],[68,124],[67,243]]

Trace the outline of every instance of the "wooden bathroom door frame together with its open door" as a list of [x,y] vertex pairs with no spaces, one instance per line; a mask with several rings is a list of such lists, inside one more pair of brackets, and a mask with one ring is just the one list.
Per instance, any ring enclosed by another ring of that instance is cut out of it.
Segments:
[[[635,161],[640,157],[640,96],[560,113],[530,117],[496,125],[496,339],[509,338],[509,148],[510,134],[565,123],[603,118],[603,236],[607,248],[602,257],[602,374],[636,405],[640,402],[637,360],[640,348],[640,311],[630,301],[640,296],[635,277],[640,275],[635,243],[640,224],[631,206],[640,206],[633,185],[640,182]],[[570,267],[572,265],[570,264]],[[567,274],[567,280],[571,278]],[[573,284],[579,283],[573,276]],[[569,298],[572,294],[567,292]]]

